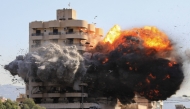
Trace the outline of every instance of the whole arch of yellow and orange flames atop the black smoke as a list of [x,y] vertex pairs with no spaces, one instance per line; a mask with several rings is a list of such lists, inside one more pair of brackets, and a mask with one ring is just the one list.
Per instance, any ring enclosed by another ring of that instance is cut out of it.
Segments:
[[103,42],[109,42],[111,44],[110,48],[113,49],[119,44],[122,44],[124,36],[139,37],[144,47],[154,48],[157,51],[172,49],[167,35],[153,26],[121,31],[118,25],[114,25],[107,33]]

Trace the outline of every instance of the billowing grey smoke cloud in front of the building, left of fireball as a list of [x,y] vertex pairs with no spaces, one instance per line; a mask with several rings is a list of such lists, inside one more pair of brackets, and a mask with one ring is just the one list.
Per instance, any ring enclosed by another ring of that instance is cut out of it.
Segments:
[[5,69],[12,75],[22,77],[25,82],[33,77],[36,81],[68,85],[79,81],[86,72],[84,59],[76,46],[59,46],[54,43],[46,43],[36,52],[25,56],[17,56],[5,65]]

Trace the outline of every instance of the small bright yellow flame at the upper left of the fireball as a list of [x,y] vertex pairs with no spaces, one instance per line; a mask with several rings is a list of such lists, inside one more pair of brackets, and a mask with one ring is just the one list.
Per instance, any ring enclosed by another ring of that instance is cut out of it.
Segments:
[[113,43],[115,39],[120,36],[121,28],[119,25],[114,25],[109,32],[107,33],[106,37],[104,38],[103,42],[109,42],[110,44]]

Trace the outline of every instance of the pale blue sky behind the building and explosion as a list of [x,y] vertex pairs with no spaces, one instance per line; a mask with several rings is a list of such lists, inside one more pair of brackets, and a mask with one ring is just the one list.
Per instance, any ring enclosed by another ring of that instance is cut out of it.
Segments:
[[[70,8],[77,11],[77,19],[95,22],[104,34],[114,25],[122,29],[156,26],[176,44],[180,54],[190,47],[190,1],[188,0],[4,0],[0,7],[0,65],[28,51],[29,22],[56,19],[56,10]],[[94,17],[97,16],[96,19]],[[181,48],[182,47],[182,48]],[[188,60],[183,55],[184,60]],[[185,67],[190,67],[186,62]],[[11,77],[0,66],[0,84],[9,84]],[[186,77],[190,76],[188,69]],[[189,78],[179,95],[190,95]]]

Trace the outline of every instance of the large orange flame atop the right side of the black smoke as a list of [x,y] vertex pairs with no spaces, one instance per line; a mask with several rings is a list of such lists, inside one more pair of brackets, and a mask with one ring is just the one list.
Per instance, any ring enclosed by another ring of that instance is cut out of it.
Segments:
[[167,35],[156,27],[145,26],[144,28],[135,28],[125,31],[123,35],[140,37],[145,47],[154,48],[157,51],[171,49]]

